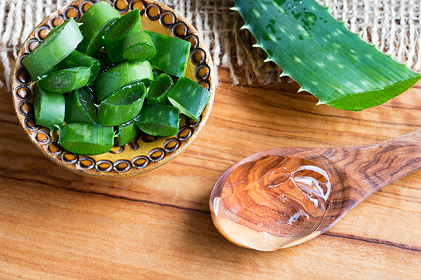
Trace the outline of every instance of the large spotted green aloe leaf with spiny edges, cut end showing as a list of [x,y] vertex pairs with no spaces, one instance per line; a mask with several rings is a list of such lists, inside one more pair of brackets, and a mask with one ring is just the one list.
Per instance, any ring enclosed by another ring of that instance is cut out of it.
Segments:
[[361,111],[380,105],[421,78],[361,40],[314,0],[235,0],[266,62],[275,62],[319,99],[318,104]]

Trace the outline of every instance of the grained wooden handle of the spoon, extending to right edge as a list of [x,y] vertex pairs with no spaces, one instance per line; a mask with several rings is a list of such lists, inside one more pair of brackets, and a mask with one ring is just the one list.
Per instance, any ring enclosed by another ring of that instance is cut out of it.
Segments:
[[[336,151],[335,151],[336,150]],[[365,146],[333,148],[329,159],[347,176],[356,204],[377,190],[421,169],[421,130]]]

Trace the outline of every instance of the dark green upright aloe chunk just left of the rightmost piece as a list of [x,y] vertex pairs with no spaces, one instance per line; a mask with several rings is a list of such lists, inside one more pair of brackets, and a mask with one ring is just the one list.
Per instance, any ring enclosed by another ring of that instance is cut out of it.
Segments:
[[154,104],[167,104],[171,105],[170,101],[168,100],[168,92],[170,92],[171,88],[173,87],[174,82],[173,78],[167,73],[161,73],[158,77],[156,77],[152,83],[147,88],[147,104],[154,105]]

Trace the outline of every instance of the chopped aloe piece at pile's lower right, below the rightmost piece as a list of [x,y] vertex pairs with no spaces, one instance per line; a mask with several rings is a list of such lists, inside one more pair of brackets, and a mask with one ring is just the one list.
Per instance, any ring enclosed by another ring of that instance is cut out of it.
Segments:
[[180,111],[169,105],[148,105],[140,111],[136,124],[146,134],[156,137],[171,137],[178,132]]

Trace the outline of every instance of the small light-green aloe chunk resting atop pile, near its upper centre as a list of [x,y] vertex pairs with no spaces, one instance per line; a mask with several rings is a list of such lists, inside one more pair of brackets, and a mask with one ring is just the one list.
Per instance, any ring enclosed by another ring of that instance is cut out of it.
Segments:
[[156,55],[151,36],[145,32],[128,34],[123,40],[123,57],[132,61],[149,60]]

